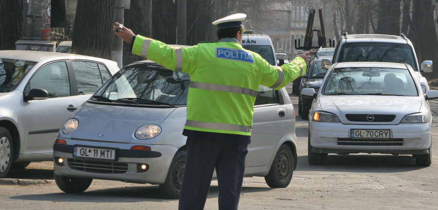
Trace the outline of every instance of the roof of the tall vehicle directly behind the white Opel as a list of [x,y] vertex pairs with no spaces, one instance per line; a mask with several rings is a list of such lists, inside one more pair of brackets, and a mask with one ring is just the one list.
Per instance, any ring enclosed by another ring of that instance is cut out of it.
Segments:
[[406,44],[407,40],[402,36],[388,34],[348,34],[346,42],[388,42]]

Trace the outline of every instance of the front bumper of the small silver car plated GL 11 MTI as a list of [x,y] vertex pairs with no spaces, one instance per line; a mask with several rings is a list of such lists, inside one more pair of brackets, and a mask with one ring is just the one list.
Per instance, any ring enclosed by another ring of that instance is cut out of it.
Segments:
[[[172,145],[147,145],[151,148],[151,151],[142,151],[129,149],[131,146],[138,144],[103,143],[72,139],[65,140],[67,141],[67,145],[54,145],[53,156],[55,157],[55,174],[66,177],[82,177],[93,179],[118,180],[133,183],[162,184],[167,177],[167,172],[169,170],[169,166],[172,162],[173,156],[178,151],[178,149]],[[116,161],[105,161],[76,158],[73,157],[74,145],[118,148],[118,159]],[[62,165],[57,164],[56,161],[58,158],[64,159]],[[108,172],[108,170],[106,170],[106,172],[102,173],[96,172],[96,170],[87,171],[86,167],[78,168],[73,166],[77,166],[82,162],[86,162],[88,166],[90,166],[90,164],[96,165],[91,167],[113,167],[116,169],[124,168],[124,170],[123,172],[116,171],[115,173]],[[139,163],[147,164],[148,170],[146,172],[139,172]]]

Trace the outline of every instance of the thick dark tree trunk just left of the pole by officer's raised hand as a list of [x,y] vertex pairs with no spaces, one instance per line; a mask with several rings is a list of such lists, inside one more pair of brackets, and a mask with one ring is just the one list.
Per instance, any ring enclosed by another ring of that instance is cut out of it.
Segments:
[[114,7],[115,0],[77,1],[72,52],[110,59]]

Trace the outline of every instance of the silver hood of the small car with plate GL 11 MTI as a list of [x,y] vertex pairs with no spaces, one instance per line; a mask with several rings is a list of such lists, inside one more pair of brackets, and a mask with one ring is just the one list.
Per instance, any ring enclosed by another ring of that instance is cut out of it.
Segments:
[[[85,102],[71,118],[79,122],[72,139],[129,143],[147,124],[160,125],[177,108],[145,108]],[[103,136],[102,136],[103,135]]]

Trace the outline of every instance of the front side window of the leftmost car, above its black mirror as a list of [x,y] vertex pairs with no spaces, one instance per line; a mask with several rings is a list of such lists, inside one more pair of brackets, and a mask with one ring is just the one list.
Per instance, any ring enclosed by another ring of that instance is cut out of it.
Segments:
[[44,65],[29,81],[26,90],[41,88],[49,98],[70,96],[69,73],[65,61]]

